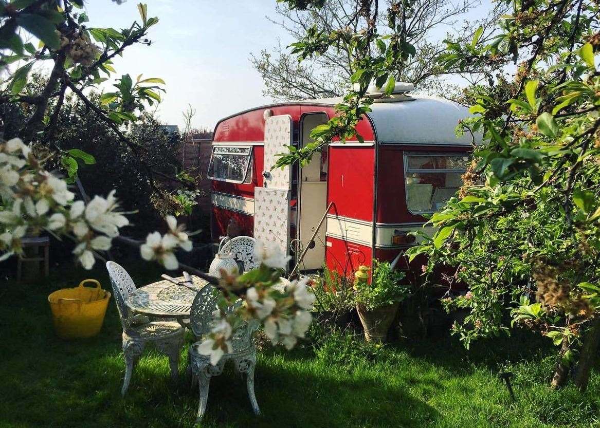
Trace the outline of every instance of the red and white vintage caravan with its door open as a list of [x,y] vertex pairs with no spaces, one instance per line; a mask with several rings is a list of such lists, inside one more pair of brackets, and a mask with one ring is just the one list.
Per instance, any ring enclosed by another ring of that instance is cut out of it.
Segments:
[[[215,240],[235,219],[242,234],[301,254],[325,216],[301,268],[326,263],[343,275],[412,245],[406,233],[461,186],[472,140],[455,128],[468,110],[437,98],[381,98],[358,124],[364,143],[333,143],[304,168],[271,170],[284,146],[310,143],[340,101],[272,104],[217,123],[208,169]],[[397,269],[410,269],[406,258]]]

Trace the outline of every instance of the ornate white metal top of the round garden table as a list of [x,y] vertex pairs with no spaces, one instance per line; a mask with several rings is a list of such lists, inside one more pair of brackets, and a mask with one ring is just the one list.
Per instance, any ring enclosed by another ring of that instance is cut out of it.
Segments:
[[[138,314],[157,315],[159,317],[190,317],[191,304],[198,291],[208,284],[197,276],[192,276],[193,288],[176,285],[166,279],[152,282],[131,293],[127,298],[127,306]],[[175,278],[185,281],[183,276]]]

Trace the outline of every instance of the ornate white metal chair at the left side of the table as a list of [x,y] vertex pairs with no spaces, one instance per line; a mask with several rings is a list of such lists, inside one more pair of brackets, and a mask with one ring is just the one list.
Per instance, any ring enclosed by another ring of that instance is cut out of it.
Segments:
[[151,321],[145,324],[133,324],[133,315],[125,305],[127,297],[136,291],[136,285],[123,267],[113,261],[106,263],[110,282],[115,296],[116,306],[123,326],[123,353],[125,354],[125,379],[121,394],[125,396],[133,369],[142,356],[146,343],[152,343],[158,351],[169,357],[171,379],[177,379],[179,349],[184,343],[185,329],[178,322]]

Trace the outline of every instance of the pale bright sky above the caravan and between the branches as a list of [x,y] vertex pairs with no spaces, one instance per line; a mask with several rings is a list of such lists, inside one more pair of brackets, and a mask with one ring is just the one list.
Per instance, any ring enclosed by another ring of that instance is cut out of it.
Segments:
[[[271,49],[289,35],[265,16],[276,18],[275,0],[147,0],[148,16],[160,20],[149,31],[151,46],[128,47],[115,59],[116,76],[161,77],[167,93],[158,115],[167,124],[183,125],[182,111],[196,110],[194,127],[214,127],[218,119],[272,100],[262,95],[263,83],[250,53]],[[137,2],[86,2],[89,26],[121,29],[139,20]],[[480,17],[484,7],[469,17]],[[443,38],[445,29],[434,37]],[[106,84],[105,84],[106,85]],[[106,88],[110,91],[110,85]]]

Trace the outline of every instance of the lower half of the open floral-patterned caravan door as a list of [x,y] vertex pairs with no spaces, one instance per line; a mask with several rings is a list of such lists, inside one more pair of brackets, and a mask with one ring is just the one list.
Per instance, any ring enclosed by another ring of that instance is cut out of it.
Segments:
[[286,254],[290,242],[289,194],[286,189],[254,189],[254,238],[274,242]]

